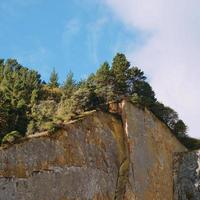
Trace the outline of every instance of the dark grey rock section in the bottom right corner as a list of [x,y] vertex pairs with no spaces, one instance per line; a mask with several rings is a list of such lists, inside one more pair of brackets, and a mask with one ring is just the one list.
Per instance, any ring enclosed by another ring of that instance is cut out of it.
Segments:
[[200,151],[176,154],[174,200],[200,200]]

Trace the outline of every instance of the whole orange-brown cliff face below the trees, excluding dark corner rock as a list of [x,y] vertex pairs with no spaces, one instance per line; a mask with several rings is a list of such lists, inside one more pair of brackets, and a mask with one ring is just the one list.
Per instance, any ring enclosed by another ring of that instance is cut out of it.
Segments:
[[149,111],[113,108],[1,149],[0,200],[172,200],[186,148]]

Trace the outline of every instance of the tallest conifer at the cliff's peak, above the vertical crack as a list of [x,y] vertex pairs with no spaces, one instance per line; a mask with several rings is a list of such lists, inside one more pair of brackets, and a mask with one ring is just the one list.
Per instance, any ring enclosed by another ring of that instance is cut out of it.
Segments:
[[126,96],[128,92],[128,69],[130,63],[126,59],[126,56],[121,53],[117,53],[113,59],[111,73],[114,78],[114,90],[118,96]]

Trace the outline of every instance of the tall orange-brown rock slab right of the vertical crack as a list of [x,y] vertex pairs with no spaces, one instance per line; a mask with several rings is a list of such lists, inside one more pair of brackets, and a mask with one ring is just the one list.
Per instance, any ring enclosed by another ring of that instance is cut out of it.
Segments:
[[173,154],[186,148],[148,110],[122,102],[130,150],[127,196],[137,200],[173,199]]

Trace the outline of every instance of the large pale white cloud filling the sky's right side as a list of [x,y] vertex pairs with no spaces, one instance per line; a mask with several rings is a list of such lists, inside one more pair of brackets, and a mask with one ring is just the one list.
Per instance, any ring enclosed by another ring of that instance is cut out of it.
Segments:
[[152,37],[130,60],[150,76],[158,99],[200,138],[200,1],[105,0],[127,26]]

